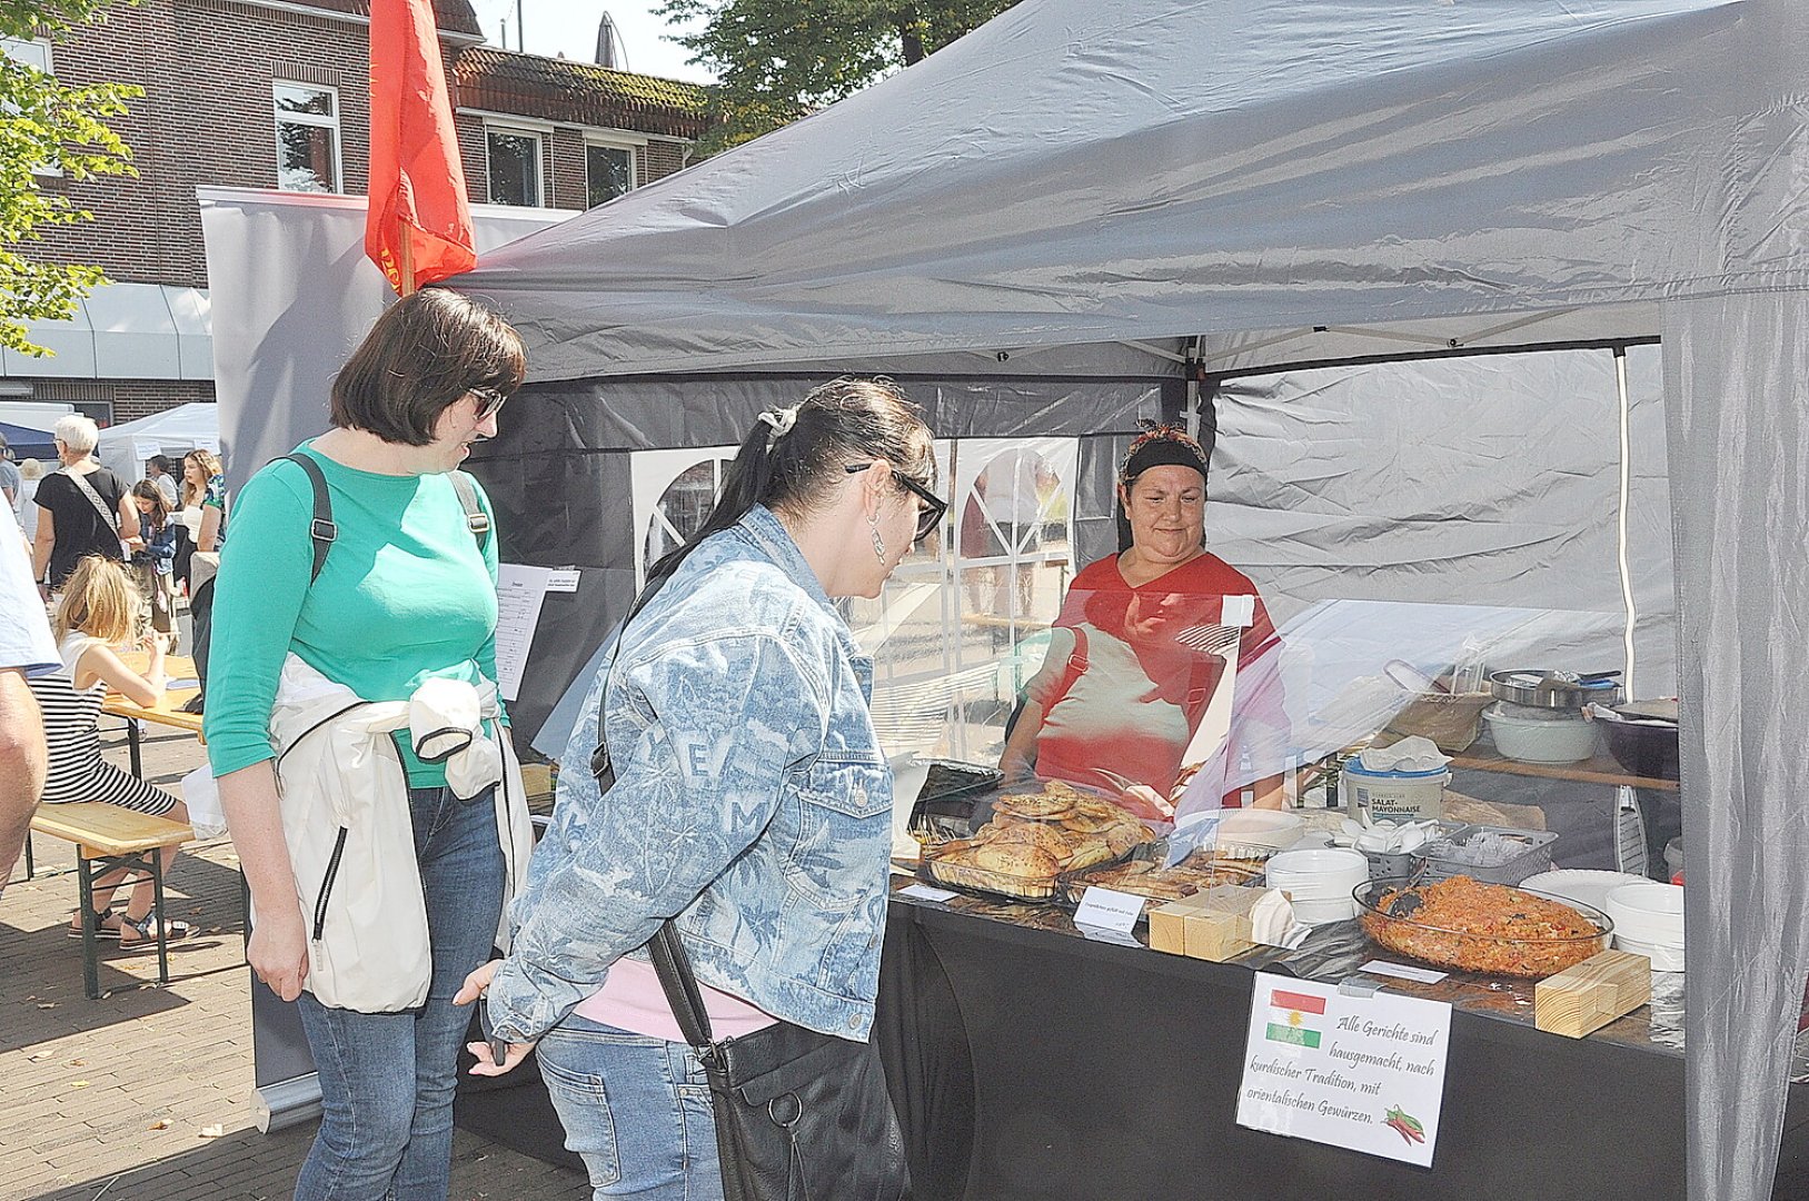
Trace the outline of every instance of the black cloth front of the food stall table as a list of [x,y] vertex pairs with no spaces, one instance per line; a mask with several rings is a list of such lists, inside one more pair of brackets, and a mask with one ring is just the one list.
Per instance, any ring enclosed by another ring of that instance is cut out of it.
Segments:
[[[1684,1060],[1637,1015],[1561,1038],[1532,1029],[1525,986],[1458,984],[1476,998],[1454,1006],[1436,1158],[1418,1168],[1236,1125],[1252,966],[993,910],[894,897],[876,1036],[917,1201],[1684,1197]],[[1785,1140],[1778,1196],[1809,1196],[1809,1136]]]

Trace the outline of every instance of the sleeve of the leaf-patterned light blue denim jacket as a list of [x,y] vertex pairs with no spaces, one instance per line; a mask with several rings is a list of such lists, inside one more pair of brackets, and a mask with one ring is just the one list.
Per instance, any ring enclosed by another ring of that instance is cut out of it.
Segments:
[[747,850],[785,772],[821,743],[825,684],[769,633],[628,655],[606,700],[615,787],[561,796],[487,993],[492,1029],[516,1042],[564,1018]]

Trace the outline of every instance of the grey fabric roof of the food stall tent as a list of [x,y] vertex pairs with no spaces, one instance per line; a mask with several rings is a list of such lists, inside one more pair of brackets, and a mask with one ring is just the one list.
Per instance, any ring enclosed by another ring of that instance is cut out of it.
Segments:
[[461,286],[563,380],[1798,284],[1804,7],[1026,0]]

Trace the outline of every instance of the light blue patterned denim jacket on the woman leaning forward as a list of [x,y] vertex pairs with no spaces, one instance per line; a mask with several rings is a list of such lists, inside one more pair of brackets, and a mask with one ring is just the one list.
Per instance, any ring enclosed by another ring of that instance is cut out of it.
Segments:
[[[606,796],[590,774],[604,689]],[[892,837],[870,691],[872,660],[769,510],[704,541],[597,673],[492,1029],[539,1038],[677,915],[706,984],[865,1040]]]

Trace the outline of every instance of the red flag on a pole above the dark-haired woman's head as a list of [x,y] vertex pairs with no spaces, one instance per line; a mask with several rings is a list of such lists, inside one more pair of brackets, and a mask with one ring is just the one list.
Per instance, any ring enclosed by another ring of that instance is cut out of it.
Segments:
[[402,295],[478,266],[431,0],[371,0],[369,195],[364,253]]

